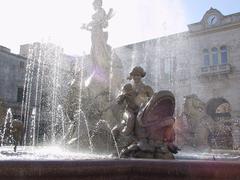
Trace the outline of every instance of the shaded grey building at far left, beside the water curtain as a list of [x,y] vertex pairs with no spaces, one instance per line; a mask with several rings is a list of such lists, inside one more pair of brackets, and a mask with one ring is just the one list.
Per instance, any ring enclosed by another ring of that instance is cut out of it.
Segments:
[[27,59],[0,46],[0,99],[11,108],[15,118],[21,113]]

